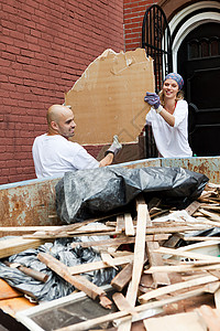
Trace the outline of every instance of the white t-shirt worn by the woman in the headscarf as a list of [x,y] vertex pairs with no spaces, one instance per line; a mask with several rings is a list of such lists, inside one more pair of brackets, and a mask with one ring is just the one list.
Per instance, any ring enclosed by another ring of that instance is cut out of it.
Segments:
[[178,100],[174,111],[175,125],[170,127],[164,118],[151,108],[146,115],[146,124],[152,125],[158,152],[163,158],[191,157],[188,143],[188,104]]

